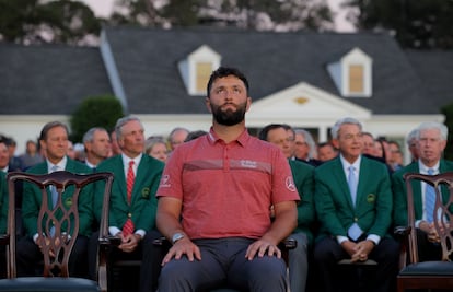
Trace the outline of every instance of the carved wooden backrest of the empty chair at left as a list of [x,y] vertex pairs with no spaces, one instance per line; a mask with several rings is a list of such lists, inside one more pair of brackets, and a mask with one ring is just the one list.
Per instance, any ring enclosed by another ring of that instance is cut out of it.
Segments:
[[[93,188],[94,182],[105,180],[104,196],[107,200],[111,194],[113,174],[93,173],[93,174],[73,174],[67,171],[54,172],[44,175],[12,172],[7,176],[9,187],[9,214],[8,214],[8,234],[10,243],[8,246],[8,277],[15,278],[15,182],[24,180],[40,189],[42,203],[38,213],[37,243],[42,248],[44,256],[44,277],[69,277],[68,261],[74,245],[73,240],[79,234],[79,195],[90,195],[82,191],[84,187]],[[90,185],[92,184],[92,185]],[[90,186],[88,186],[90,185]],[[49,202],[48,190],[55,188],[58,192],[58,200],[53,208]],[[70,191],[71,201],[61,200],[61,194]],[[81,192],[82,191],[82,192]],[[93,194],[92,192],[92,194]]]

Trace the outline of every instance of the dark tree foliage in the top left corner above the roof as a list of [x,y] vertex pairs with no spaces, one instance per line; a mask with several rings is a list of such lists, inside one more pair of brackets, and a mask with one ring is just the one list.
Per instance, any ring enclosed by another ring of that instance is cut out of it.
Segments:
[[89,44],[101,20],[82,2],[0,0],[0,36],[21,44]]

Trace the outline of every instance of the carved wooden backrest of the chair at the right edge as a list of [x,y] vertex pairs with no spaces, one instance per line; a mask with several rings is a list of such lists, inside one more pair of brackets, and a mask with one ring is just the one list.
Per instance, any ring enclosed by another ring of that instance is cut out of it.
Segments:
[[[417,231],[414,206],[414,187],[413,184],[425,182],[435,189],[435,205],[433,211],[434,227],[440,237],[442,247],[442,260],[451,260],[453,255],[453,172],[423,175],[419,173],[407,173],[404,175],[407,189],[407,217],[408,224],[411,227],[409,238],[409,259],[410,262],[418,262],[417,249]],[[442,192],[449,194],[445,199]]]

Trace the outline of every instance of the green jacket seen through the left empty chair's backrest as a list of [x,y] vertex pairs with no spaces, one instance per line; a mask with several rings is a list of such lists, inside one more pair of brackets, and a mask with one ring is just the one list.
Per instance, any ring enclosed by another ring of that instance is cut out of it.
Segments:
[[[42,162],[35,166],[32,166],[27,172],[32,174],[47,174],[48,173],[47,161]],[[68,157],[66,170],[71,173],[77,174],[89,174],[92,171],[85,164],[73,161]],[[70,206],[72,203],[72,192],[74,187],[70,186],[66,191],[62,192],[61,200],[65,206]],[[93,186],[89,185],[83,188],[79,195],[79,234],[90,236],[91,226],[93,223],[93,212],[92,201],[93,201]],[[49,208],[51,208],[51,194],[47,190]],[[24,191],[22,199],[22,218],[25,234],[33,236],[37,233],[37,218],[39,214],[39,208],[42,202],[42,192],[40,189],[32,183],[24,182]],[[44,224],[43,224],[44,226]],[[65,229],[65,226],[62,226]]]

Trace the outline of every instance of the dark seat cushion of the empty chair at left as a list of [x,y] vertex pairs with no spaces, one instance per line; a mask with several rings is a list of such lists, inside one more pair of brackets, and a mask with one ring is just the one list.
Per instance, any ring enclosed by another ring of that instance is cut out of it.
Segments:
[[46,292],[76,292],[76,291],[101,291],[95,281],[81,278],[44,278],[44,277],[20,277],[15,279],[1,279],[0,291],[46,291]]

